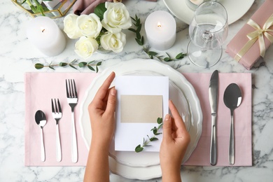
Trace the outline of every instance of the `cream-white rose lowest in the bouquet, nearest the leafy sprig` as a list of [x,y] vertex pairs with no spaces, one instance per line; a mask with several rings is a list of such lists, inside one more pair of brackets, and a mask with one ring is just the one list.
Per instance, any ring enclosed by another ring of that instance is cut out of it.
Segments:
[[92,56],[97,51],[97,48],[99,48],[99,44],[96,39],[86,36],[81,36],[75,44],[75,52],[84,59]]

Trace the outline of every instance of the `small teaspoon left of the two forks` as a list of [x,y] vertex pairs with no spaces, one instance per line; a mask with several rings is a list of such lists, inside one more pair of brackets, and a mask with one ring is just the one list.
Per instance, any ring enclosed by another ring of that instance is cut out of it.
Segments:
[[37,125],[41,127],[41,161],[45,161],[45,145],[43,144],[43,127],[46,124],[45,113],[41,110],[36,111],[35,120]]

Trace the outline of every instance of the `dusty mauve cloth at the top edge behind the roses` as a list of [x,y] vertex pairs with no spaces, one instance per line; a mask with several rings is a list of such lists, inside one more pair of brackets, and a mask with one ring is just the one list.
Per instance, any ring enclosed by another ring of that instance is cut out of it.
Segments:
[[[106,1],[113,0],[78,0],[73,5],[73,13],[76,15],[89,15],[94,12],[94,8],[99,5],[99,3],[104,3]],[[146,1],[157,1],[157,0],[146,0]]]

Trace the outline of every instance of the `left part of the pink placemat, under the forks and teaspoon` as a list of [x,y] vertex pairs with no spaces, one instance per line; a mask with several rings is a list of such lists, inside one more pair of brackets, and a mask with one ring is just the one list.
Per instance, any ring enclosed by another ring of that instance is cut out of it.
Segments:
[[[26,73],[25,74],[25,165],[26,166],[85,166],[88,151],[80,132],[80,103],[85,90],[96,73]],[[71,162],[71,107],[66,101],[65,79],[74,79],[78,91],[75,107],[75,123],[78,141],[78,162]],[[51,113],[51,99],[59,98],[62,118],[59,120],[59,136],[62,146],[62,161],[56,160],[55,119]],[[45,162],[41,161],[40,127],[35,122],[35,113],[45,113],[47,123],[43,127]]]

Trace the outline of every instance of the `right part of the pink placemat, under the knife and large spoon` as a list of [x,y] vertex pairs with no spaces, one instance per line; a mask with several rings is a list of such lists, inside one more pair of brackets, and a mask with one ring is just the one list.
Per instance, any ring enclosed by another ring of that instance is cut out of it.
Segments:
[[[203,123],[200,140],[185,165],[210,166],[209,148],[211,142],[211,109],[209,106],[209,80],[211,73],[183,73],[195,87],[200,99]],[[251,73],[219,73],[218,94],[218,159],[216,166],[229,166],[228,149],[230,142],[230,109],[223,102],[225,88],[237,83],[242,92],[241,105],[235,109],[235,165],[252,165],[251,146]]]

